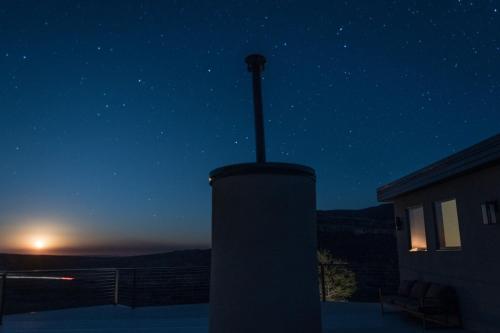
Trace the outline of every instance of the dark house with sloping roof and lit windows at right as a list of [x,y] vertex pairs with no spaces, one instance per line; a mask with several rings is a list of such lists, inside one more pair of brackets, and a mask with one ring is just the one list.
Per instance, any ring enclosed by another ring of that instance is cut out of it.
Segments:
[[451,285],[466,329],[500,332],[500,135],[380,187],[400,279]]

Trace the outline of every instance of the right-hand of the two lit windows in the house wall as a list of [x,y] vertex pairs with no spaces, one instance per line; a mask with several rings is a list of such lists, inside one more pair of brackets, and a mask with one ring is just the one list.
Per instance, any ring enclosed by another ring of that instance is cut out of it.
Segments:
[[457,249],[462,246],[455,199],[435,203],[439,248]]

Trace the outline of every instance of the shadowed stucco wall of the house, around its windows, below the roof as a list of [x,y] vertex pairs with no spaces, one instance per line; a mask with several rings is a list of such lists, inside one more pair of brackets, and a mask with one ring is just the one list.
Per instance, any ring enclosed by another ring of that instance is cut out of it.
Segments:
[[[441,250],[434,202],[453,198],[461,249]],[[500,163],[393,199],[395,216],[403,221],[402,230],[396,234],[401,280],[422,279],[454,286],[464,327],[487,333],[500,332],[500,223],[483,224],[481,203],[485,201],[500,201]],[[405,210],[416,205],[424,208],[427,251],[410,252]]]

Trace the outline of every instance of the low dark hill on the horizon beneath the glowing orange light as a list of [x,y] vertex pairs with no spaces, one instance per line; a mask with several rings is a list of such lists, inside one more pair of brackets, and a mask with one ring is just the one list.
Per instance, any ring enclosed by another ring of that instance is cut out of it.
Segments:
[[0,271],[209,265],[210,250],[184,250],[128,257],[0,254]]

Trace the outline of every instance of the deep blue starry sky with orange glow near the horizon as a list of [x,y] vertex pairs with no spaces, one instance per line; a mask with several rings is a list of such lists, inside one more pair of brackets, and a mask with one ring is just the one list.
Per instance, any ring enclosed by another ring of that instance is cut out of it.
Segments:
[[499,31],[487,0],[2,1],[0,252],[209,247],[208,172],[255,158],[254,52],[268,160],[315,168],[320,209],[375,205],[498,132]]

